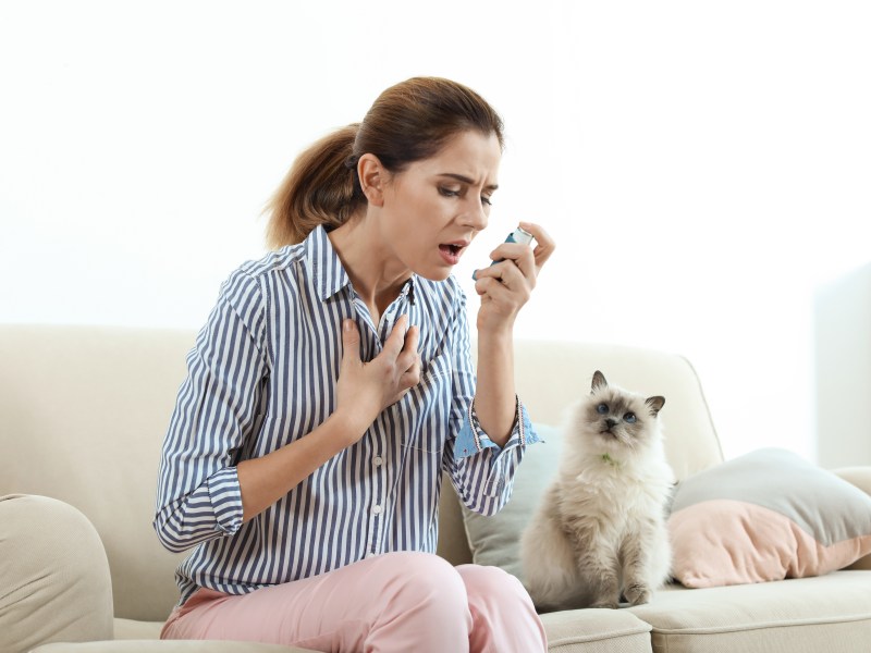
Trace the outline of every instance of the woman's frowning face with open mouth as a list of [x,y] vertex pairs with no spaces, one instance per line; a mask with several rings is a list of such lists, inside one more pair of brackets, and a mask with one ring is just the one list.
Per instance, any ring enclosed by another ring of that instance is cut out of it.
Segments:
[[407,269],[447,278],[487,226],[502,150],[495,134],[461,132],[433,157],[392,175],[384,187],[382,238]]

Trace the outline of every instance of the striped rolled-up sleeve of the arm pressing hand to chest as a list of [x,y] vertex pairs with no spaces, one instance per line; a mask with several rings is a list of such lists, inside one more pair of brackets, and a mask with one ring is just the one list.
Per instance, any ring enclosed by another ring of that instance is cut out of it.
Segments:
[[260,410],[268,370],[263,315],[257,281],[235,272],[187,356],[163,442],[154,520],[170,551],[242,526],[235,464]]

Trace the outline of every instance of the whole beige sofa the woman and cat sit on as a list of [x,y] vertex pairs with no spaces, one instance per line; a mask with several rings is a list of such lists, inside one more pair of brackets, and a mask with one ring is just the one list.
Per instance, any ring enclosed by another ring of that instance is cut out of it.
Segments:
[[[151,529],[159,451],[194,333],[0,325],[0,650],[278,651],[156,641],[182,558]],[[689,362],[582,343],[519,342],[517,385],[533,422],[556,423],[594,369],[666,396],[671,464],[684,479],[722,461]],[[544,446],[544,445],[536,445]],[[871,493],[871,468],[843,475]],[[45,532],[17,538],[40,515]],[[464,520],[442,497],[439,553],[469,562]],[[51,568],[73,590],[57,591]],[[869,651],[871,560],[815,578],[689,590],[647,605],[543,615],[551,651]],[[100,640],[100,641],[98,641]],[[48,643],[86,642],[86,643]]]

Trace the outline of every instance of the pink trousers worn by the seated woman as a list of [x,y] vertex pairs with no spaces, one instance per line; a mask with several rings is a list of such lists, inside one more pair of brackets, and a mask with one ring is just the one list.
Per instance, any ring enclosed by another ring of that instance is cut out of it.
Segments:
[[532,602],[514,576],[413,552],[241,596],[200,589],[170,615],[161,639],[366,653],[548,649]]

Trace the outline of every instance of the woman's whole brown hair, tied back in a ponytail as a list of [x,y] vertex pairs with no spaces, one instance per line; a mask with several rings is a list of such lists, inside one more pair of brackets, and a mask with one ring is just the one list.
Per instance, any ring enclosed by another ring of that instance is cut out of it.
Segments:
[[494,134],[504,147],[502,119],[470,88],[441,77],[391,86],[361,123],[324,136],[297,157],[267,206],[267,244],[299,243],[319,224],[339,226],[365,206],[357,178],[363,155],[375,155],[396,174],[467,130]]

